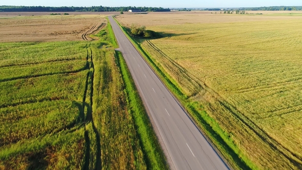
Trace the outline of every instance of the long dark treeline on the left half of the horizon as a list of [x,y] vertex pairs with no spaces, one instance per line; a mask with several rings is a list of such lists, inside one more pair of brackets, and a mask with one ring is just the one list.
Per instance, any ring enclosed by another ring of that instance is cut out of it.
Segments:
[[169,8],[162,7],[44,7],[44,6],[0,6],[0,12],[126,12],[141,10],[142,12],[166,12]]

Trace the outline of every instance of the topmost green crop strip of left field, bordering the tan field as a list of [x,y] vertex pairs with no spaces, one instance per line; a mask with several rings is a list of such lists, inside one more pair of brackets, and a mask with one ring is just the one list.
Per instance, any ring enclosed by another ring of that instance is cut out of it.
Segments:
[[85,59],[87,42],[7,42],[0,46],[0,67]]

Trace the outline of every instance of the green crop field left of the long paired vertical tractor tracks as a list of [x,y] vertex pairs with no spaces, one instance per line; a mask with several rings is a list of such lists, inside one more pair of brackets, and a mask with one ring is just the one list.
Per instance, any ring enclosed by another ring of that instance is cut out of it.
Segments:
[[[85,129],[80,108],[89,72],[87,52],[81,42],[59,42],[55,49],[54,44],[1,44],[2,169],[83,164]],[[74,48],[65,51],[67,46]],[[52,52],[43,53],[50,48]]]

